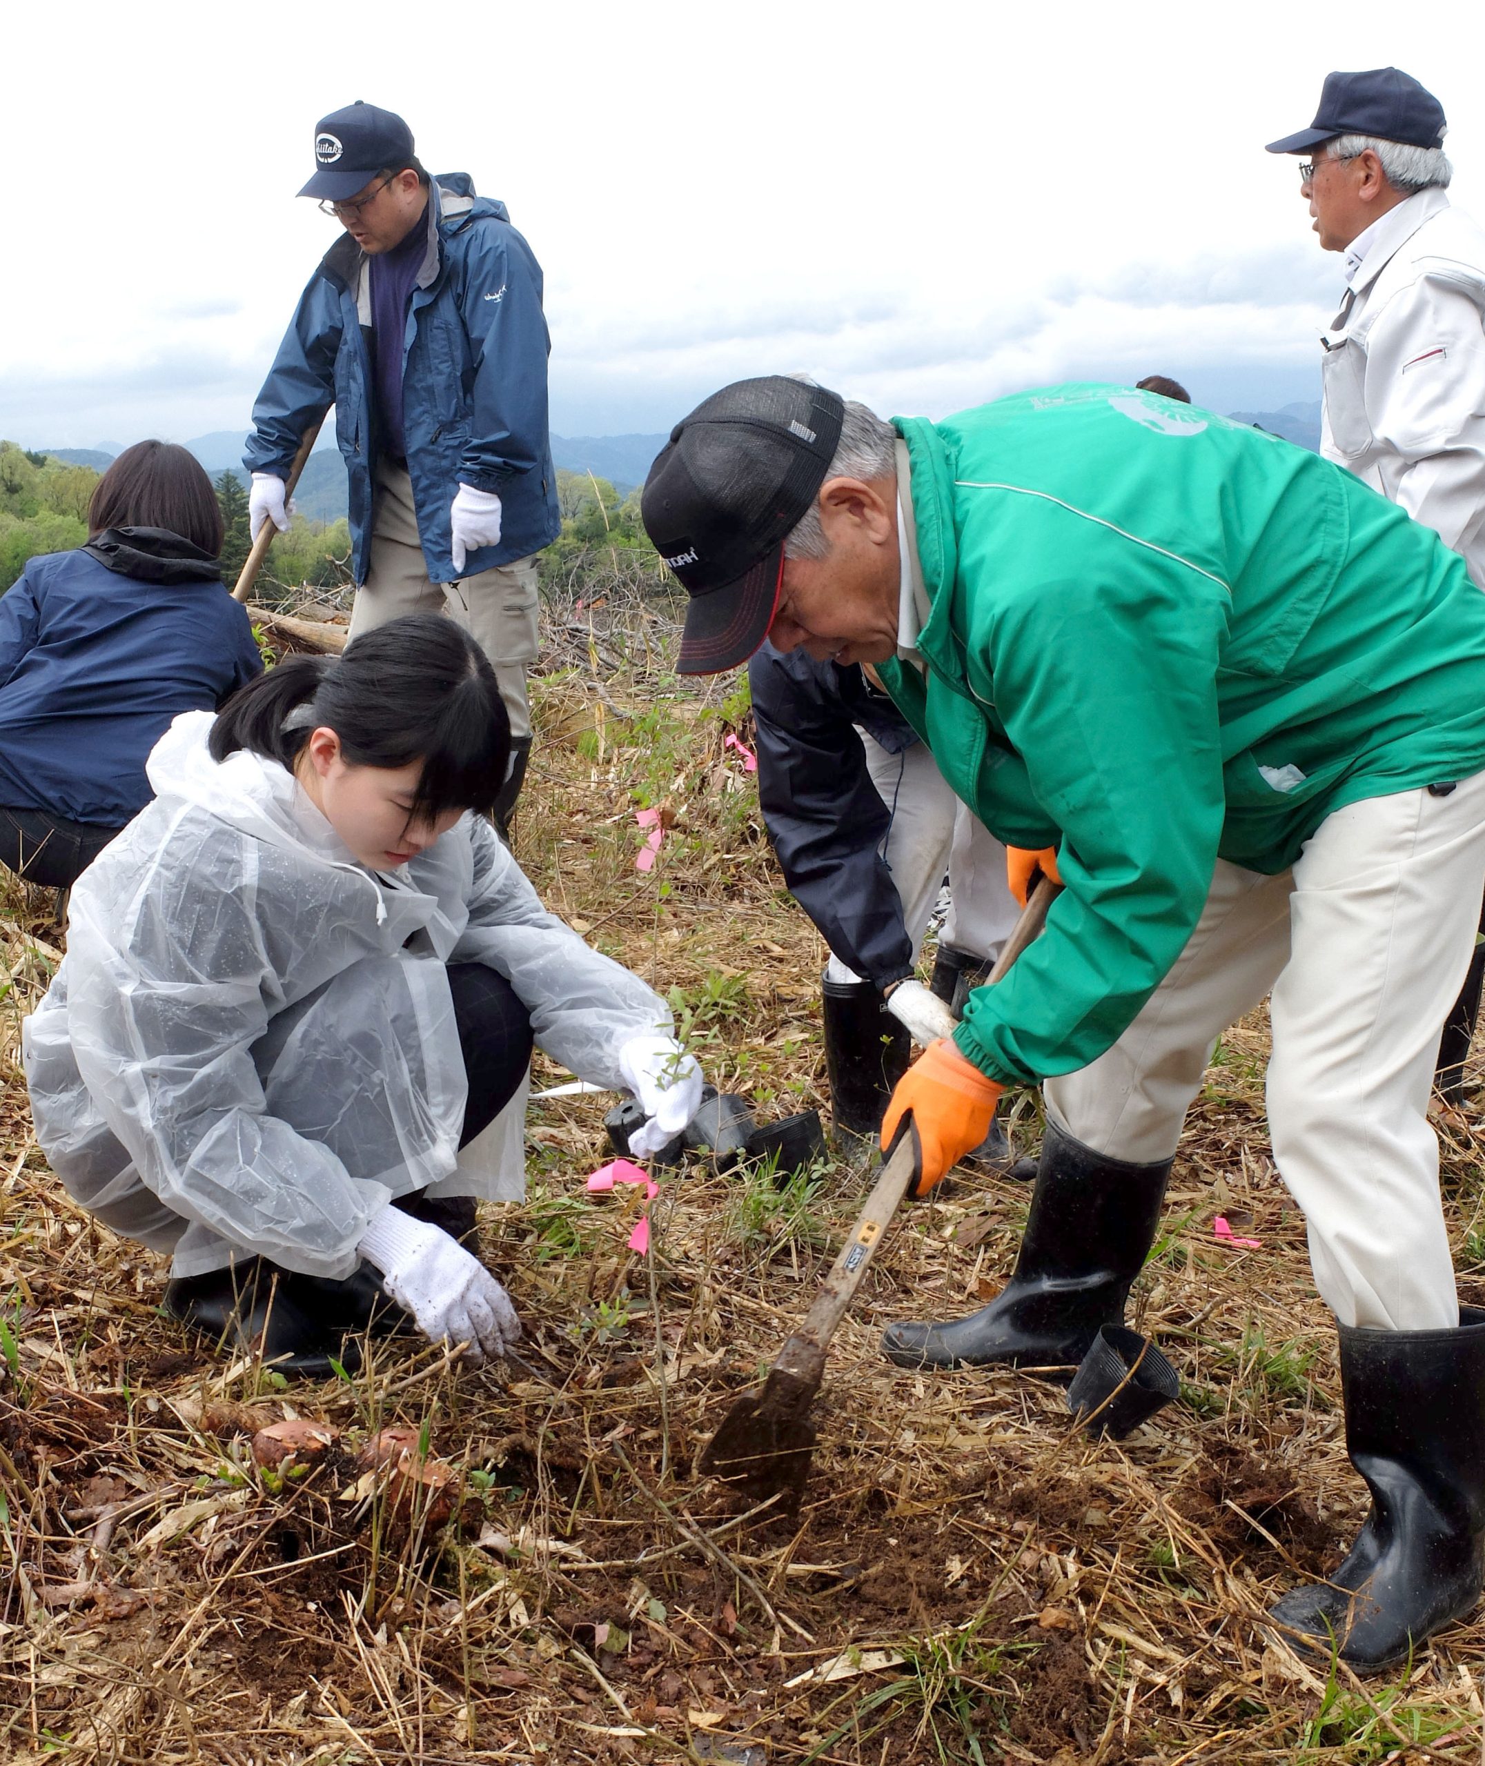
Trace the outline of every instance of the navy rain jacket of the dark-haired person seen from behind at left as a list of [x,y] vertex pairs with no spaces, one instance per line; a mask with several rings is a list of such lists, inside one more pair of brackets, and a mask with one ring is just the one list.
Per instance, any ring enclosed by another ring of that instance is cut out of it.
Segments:
[[215,558],[164,528],[109,528],[32,558],[0,595],[0,805],[122,828],[180,712],[263,671]]

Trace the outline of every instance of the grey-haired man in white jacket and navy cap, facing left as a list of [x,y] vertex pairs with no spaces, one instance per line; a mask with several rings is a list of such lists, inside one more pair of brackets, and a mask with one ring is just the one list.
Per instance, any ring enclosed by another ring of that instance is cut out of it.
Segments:
[[[1300,192],[1346,293],[1321,336],[1321,452],[1400,503],[1485,588],[1485,231],[1444,194],[1444,111],[1397,67],[1330,74],[1308,129],[1270,141],[1305,155]],[[1485,929],[1485,917],[1481,917]],[[1485,947],[1439,1045],[1439,1091],[1464,1097]]]

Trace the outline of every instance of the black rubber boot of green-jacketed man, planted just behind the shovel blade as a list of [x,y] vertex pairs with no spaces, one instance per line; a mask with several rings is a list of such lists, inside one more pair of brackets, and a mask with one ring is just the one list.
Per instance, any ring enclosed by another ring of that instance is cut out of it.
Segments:
[[969,1317],[888,1324],[888,1362],[1063,1369],[1070,1379],[1098,1328],[1123,1324],[1130,1282],[1155,1243],[1171,1164],[1130,1166],[1047,1123],[1014,1275]]

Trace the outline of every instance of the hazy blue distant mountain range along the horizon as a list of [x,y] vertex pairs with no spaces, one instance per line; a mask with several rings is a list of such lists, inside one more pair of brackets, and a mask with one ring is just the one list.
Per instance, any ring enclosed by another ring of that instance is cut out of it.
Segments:
[[[1257,424],[1300,447],[1319,449],[1321,445],[1321,406],[1285,404],[1278,411],[1232,411],[1234,422]],[[645,482],[650,464],[669,436],[553,436],[551,454],[565,472],[592,472],[625,496]],[[212,475],[233,472],[247,484],[242,468],[242,449],[247,442],[245,429],[214,429],[210,434],[196,436],[184,443]],[[95,449],[42,449],[57,459],[65,459],[74,466],[92,466],[102,472],[115,456],[122,452],[113,443],[99,443]],[[346,473],[339,450],[332,438],[321,442],[309,456],[304,475],[295,489],[295,503],[311,521],[339,521],[346,512]]]

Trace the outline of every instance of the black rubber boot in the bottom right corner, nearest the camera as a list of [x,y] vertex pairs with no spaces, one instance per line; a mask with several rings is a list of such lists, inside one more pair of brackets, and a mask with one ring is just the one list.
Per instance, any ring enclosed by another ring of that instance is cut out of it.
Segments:
[[1372,1512],[1330,1582],[1291,1589],[1270,1618],[1361,1672],[1406,1662],[1480,1598],[1485,1310],[1459,1317],[1459,1330],[1340,1326],[1346,1452]]

